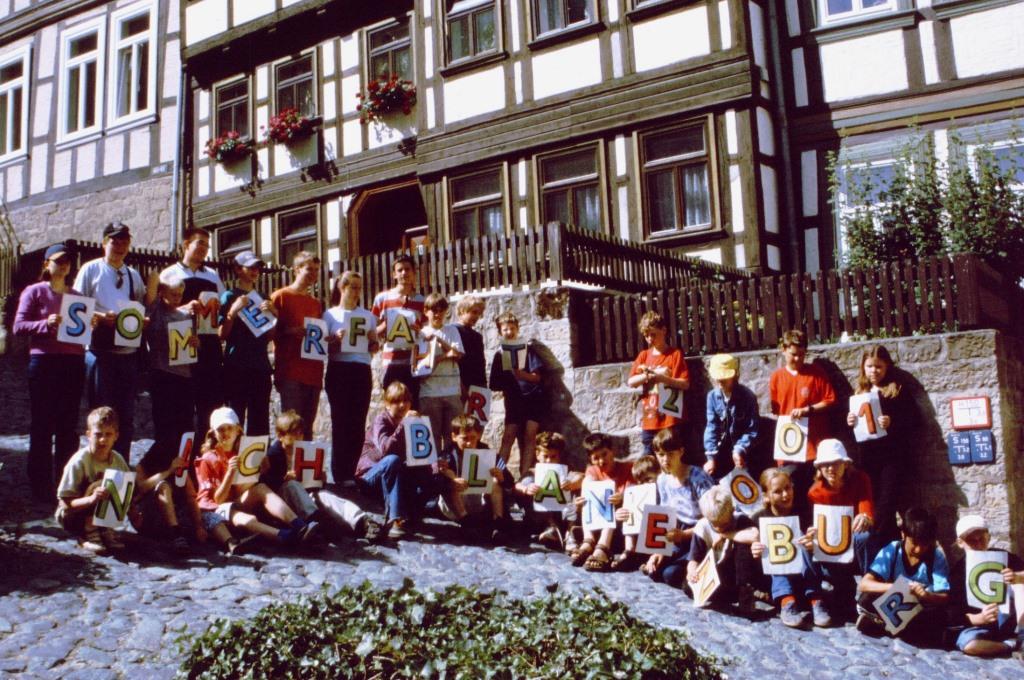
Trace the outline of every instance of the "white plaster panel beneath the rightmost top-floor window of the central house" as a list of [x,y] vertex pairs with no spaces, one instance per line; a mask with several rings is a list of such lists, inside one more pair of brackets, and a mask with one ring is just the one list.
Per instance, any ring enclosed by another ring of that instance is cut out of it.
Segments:
[[708,7],[700,5],[637,23],[633,52],[640,72],[711,53]]

